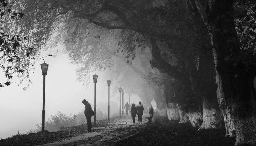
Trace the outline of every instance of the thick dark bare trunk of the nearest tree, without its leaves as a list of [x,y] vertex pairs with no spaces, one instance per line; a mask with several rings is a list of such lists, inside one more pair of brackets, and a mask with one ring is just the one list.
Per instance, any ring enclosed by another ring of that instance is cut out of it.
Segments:
[[[234,26],[233,1],[196,0],[208,27],[215,54],[215,66],[221,91],[221,109],[230,114],[236,130],[235,145],[256,145],[255,72],[246,71],[244,55]],[[255,65],[251,65],[255,67]],[[227,110],[228,109],[228,110]]]

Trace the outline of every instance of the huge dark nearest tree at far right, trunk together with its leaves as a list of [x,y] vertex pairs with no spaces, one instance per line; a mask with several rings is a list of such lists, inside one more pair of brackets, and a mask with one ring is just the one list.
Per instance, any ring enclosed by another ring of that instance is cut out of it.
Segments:
[[190,2],[211,36],[227,134],[236,134],[236,145],[255,145],[255,1]]

